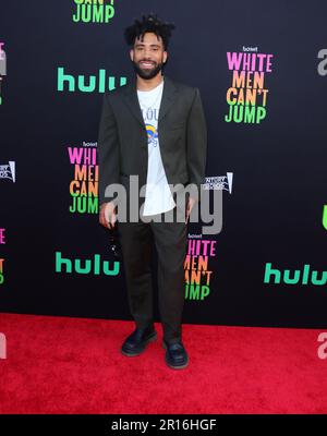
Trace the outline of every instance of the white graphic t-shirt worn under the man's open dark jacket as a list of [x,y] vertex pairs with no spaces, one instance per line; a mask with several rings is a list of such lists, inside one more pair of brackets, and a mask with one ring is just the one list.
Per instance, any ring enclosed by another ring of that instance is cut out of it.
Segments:
[[159,147],[158,116],[162,90],[164,81],[152,90],[137,90],[148,136],[147,179],[143,215],[161,214],[171,210],[175,206],[168,185]]

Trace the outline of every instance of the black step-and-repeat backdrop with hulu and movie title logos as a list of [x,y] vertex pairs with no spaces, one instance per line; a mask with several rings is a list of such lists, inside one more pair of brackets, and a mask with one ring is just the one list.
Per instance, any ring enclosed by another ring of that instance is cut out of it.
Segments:
[[[221,232],[190,226],[184,323],[326,327],[323,0],[3,3],[0,312],[132,319],[97,135],[104,94],[134,74],[123,31],[150,12],[177,26],[165,74],[201,90],[222,194]],[[156,279],[154,251],[159,320]]]

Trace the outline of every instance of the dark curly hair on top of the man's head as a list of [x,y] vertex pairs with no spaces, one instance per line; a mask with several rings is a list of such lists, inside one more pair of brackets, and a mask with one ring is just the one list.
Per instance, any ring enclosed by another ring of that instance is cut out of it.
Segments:
[[144,34],[152,32],[162,38],[164,48],[167,50],[171,31],[175,28],[172,23],[164,23],[157,15],[150,13],[147,16],[143,15],[142,20],[135,19],[134,23],[126,27],[124,37],[129,46],[133,46],[136,38],[143,40]]

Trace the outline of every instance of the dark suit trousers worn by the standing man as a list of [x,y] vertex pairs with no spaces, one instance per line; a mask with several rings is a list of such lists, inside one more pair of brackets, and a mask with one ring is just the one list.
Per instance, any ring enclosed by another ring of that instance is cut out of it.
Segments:
[[[118,222],[125,283],[131,314],[138,328],[154,323],[153,247],[158,258],[158,303],[164,339],[182,339],[182,312],[185,295],[184,261],[187,244],[187,223],[178,222],[177,207],[172,222],[165,214],[147,217],[148,222]],[[156,222],[156,217],[161,222]]]

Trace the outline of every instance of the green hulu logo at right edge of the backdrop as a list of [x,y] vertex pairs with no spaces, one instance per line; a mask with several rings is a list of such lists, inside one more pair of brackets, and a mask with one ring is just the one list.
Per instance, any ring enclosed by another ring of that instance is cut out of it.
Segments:
[[327,283],[327,271],[320,272],[320,278],[318,278],[318,271],[310,269],[310,265],[305,264],[302,270],[295,269],[291,271],[290,269],[284,269],[280,271],[279,269],[272,269],[271,264],[266,264],[265,270],[265,283],[279,284],[282,280],[286,284],[315,284],[324,286]]

